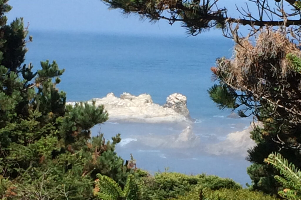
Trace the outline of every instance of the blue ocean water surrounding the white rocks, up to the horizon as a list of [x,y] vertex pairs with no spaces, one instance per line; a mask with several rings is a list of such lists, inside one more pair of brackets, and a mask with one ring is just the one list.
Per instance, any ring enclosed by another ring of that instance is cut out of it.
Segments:
[[[36,69],[41,60],[56,60],[66,71],[59,89],[67,92],[67,101],[86,101],[104,97],[109,92],[119,96],[148,93],[153,101],[164,104],[174,92],[187,96],[191,117],[196,119],[194,132],[202,144],[225,139],[230,132],[241,131],[250,119],[228,118],[230,111],[221,111],[209,99],[207,89],[214,83],[210,67],[216,58],[232,54],[233,42],[213,37],[164,37],[137,35],[104,35],[96,33],[30,32],[26,62]],[[93,129],[97,134],[99,127]],[[104,123],[101,132],[106,138],[116,133],[126,142],[117,153],[129,158],[133,153],[138,167],[149,171],[164,170],[183,173],[216,174],[249,182],[241,156],[213,156],[187,149],[160,149],[135,144],[133,135],[169,135],[180,133],[177,125],[139,123]],[[209,138],[209,139],[208,139]],[[210,139],[211,138],[211,139]],[[127,144],[132,145],[127,145]],[[201,147],[200,147],[201,149]]]

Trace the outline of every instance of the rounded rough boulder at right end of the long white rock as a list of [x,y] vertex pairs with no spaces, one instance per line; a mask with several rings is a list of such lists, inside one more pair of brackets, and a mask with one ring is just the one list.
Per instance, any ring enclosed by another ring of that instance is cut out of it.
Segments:
[[177,113],[189,117],[189,111],[187,109],[187,97],[180,94],[180,93],[174,93],[169,95],[166,98],[166,104],[163,105],[165,108],[172,108]]

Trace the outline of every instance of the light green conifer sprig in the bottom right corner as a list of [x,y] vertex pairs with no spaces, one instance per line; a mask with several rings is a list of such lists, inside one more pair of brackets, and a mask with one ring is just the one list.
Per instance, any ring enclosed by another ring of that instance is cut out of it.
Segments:
[[289,163],[280,153],[271,153],[265,162],[280,171],[275,179],[285,188],[278,194],[286,199],[301,199],[301,171],[293,163]]

